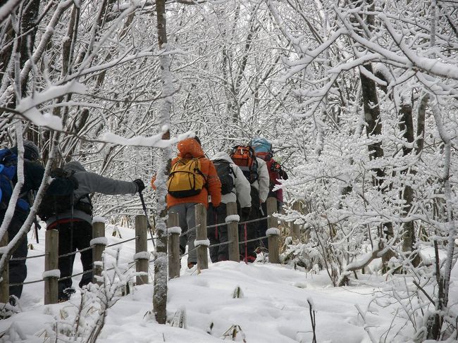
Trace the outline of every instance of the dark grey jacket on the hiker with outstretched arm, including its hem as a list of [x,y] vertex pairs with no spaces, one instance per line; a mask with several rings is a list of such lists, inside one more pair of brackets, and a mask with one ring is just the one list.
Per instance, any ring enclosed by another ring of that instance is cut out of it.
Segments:
[[[89,202],[87,195],[90,193],[101,193],[101,194],[135,194],[137,192],[137,185],[134,182],[118,181],[110,179],[109,177],[103,177],[96,173],[90,173],[78,161],[71,161],[63,167],[66,171],[73,171],[73,177],[78,180],[78,189],[75,189],[75,201]],[[58,216],[49,218],[46,223],[47,226],[54,223],[56,220],[76,218],[87,221],[92,224],[92,216],[80,211],[76,208],[71,211],[58,213]]]

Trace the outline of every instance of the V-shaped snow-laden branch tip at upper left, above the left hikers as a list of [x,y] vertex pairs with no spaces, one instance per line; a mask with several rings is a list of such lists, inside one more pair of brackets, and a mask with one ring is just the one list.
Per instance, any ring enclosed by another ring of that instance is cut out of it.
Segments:
[[32,96],[20,99],[16,111],[25,119],[30,120],[37,126],[46,126],[52,130],[63,130],[62,119],[51,113],[41,113],[37,106],[68,93],[85,94],[86,87],[78,82],[69,82],[66,85],[51,86],[43,92],[35,92]]

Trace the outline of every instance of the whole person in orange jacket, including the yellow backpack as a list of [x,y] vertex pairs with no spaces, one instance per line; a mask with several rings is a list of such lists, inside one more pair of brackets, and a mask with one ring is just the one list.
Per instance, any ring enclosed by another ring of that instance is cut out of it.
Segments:
[[[171,173],[167,180],[167,208],[169,213],[178,213],[182,232],[180,253],[184,254],[186,244],[189,254],[187,266],[197,264],[197,251],[194,249],[196,239],[196,204],[209,206],[209,196],[214,207],[221,203],[221,182],[213,163],[204,156],[199,137],[183,139],[178,142],[178,156],[171,163]],[[151,180],[155,189],[156,176]],[[189,232],[188,232],[189,230]]]

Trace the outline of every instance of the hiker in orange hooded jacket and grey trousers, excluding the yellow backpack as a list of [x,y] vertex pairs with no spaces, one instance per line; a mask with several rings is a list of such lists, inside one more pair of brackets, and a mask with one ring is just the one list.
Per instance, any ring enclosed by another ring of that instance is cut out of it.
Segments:
[[[178,142],[178,156],[173,158],[171,166],[173,167],[180,159],[199,158],[200,172],[204,176],[205,185],[199,194],[190,197],[178,198],[173,197],[170,193],[167,194],[167,208],[169,213],[178,213],[180,218],[180,227],[182,232],[192,229],[196,225],[195,210],[196,204],[204,204],[209,206],[209,195],[211,204],[214,207],[221,203],[221,182],[216,173],[215,166],[208,158],[204,156],[204,151],[200,145],[198,137],[183,139]],[[151,180],[151,186],[154,186],[156,176]],[[187,235],[180,237],[180,251],[184,254],[186,243],[188,244],[189,254],[187,255],[187,266],[192,268],[197,263],[197,251],[194,250],[194,240],[196,239],[196,230],[192,230]]]

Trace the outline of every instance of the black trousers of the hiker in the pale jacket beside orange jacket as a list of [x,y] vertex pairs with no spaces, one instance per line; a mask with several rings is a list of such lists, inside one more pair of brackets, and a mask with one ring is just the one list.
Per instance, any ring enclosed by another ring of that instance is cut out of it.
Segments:
[[[213,207],[209,204],[207,211],[206,224],[215,225],[225,223],[227,216],[226,204],[221,203],[218,207]],[[207,237],[209,238],[210,245],[228,242],[228,225],[218,225],[217,227],[210,227],[207,229]],[[218,247],[210,247],[210,259],[215,263],[218,261],[227,261],[229,259],[229,245],[223,244]]]

